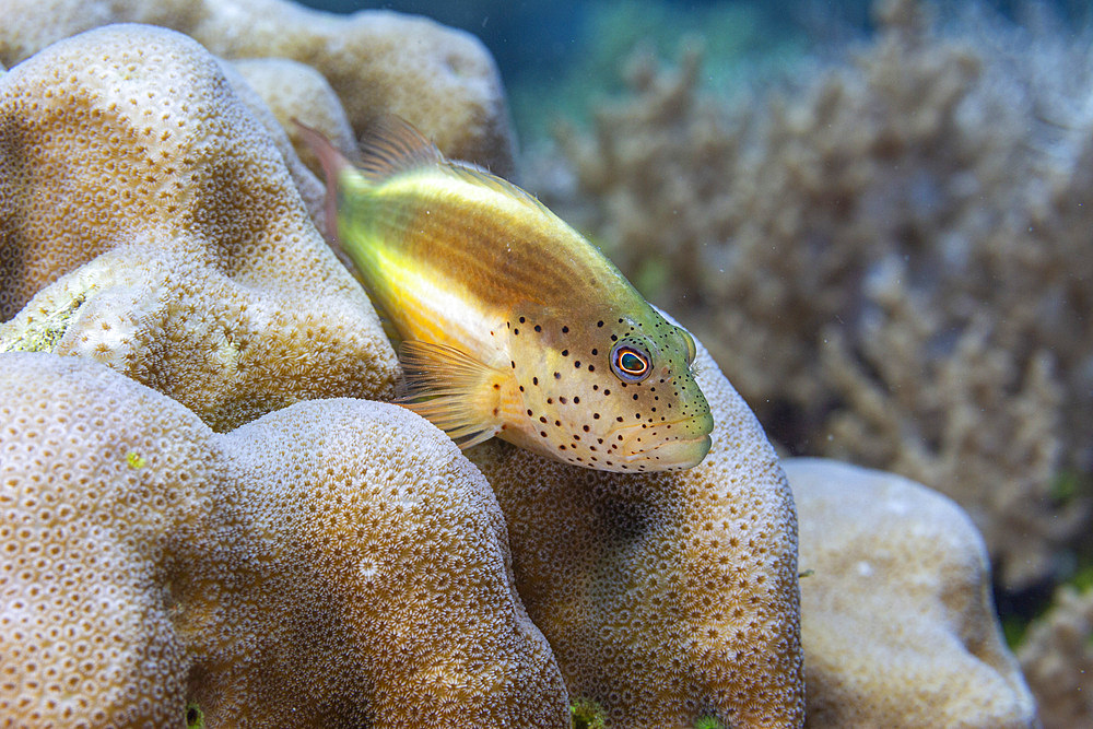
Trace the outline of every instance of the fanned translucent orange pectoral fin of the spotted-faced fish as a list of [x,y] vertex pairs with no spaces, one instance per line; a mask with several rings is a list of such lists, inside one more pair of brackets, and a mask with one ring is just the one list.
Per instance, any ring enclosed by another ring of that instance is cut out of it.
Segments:
[[404,341],[396,402],[427,419],[460,448],[489,440],[505,421],[513,377],[454,346]]

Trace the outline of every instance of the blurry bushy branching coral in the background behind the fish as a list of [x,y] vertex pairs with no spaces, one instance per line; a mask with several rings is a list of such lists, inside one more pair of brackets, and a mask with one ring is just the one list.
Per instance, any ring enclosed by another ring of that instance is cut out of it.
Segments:
[[694,52],[639,57],[563,141],[592,235],[772,437],[945,491],[1021,588],[1091,514],[1054,487],[1093,472],[1093,64],[927,16],[881,3],[853,62],[732,110]]

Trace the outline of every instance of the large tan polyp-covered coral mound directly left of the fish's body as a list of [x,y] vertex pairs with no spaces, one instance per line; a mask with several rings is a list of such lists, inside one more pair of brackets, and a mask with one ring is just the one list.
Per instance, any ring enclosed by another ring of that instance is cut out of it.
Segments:
[[216,430],[302,399],[389,397],[395,354],[262,117],[197,43],[149,26],[91,31],[4,74],[0,317],[46,289],[0,349],[94,357]]

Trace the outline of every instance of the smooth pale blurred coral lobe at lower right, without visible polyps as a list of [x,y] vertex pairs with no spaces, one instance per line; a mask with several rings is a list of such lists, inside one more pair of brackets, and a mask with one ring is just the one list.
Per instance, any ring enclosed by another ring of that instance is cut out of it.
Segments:
[[1037,726],[967,515],[891,473],[784,466],[800,510],[807,726]]

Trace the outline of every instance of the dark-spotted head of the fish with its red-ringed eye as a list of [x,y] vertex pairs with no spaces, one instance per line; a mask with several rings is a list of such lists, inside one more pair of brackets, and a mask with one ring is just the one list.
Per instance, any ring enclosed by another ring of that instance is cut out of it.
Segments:
[[651,309],[575,324],[524,318],[513,364],[521,423],[502,437],[552,458],[604,471],[696,466],[710,447],[713,414],[695,381],[695,344]]

